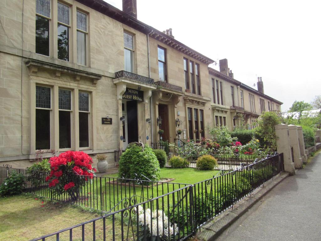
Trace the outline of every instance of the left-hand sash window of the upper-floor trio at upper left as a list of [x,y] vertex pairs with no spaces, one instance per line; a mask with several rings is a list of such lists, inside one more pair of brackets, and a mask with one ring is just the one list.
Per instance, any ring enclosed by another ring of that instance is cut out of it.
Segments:
[[49,56],[50,0],[36,0],[36,53]]

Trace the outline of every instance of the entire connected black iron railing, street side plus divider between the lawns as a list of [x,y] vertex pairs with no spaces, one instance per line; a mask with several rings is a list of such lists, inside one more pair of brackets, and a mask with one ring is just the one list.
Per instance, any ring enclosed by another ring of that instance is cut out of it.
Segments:
[[[94,177],[79,189],[76,204],[104,216],[33,240],[185,240],[283,170],[283,154],[275,153],[194,185]],[[48,173],[0,167],[1,182],[12,171],[24,174],[25,191],[70,201],[47,188]]]

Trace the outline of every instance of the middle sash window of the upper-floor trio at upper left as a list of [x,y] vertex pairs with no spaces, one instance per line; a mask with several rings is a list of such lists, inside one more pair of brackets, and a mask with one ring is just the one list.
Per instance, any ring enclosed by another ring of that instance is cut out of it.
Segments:
[[69,7],[62,3],[57,3],[58,12],[58,58],[69,61]]

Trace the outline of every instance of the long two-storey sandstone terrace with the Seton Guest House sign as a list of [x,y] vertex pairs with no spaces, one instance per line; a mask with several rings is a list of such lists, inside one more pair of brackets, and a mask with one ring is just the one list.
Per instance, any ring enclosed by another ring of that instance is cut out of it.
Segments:
[[30,166],[40,149],[105,153],[113,167],[115,150],[155,143],[159,129],[170,142],[178,128],[200,139],[214,124],[232,129],[239,112],[252,124],[261,99],[266,111],[282,104],[137,20],[136,0],[124,11],[102,0],[0,5],[0,165]]

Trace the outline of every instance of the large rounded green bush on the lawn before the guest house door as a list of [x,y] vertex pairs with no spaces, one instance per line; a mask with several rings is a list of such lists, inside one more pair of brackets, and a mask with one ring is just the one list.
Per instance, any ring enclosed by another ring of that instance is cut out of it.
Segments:
[[[144,150],[136,144],[129,144],[126,151],[120,156],[118,176],[134,179],[136,175],[142,178],[143,174],[151,180],[160,179],[160,165],[152,148],[145,145]],[[143,179],[143,178],[142,178]]]

